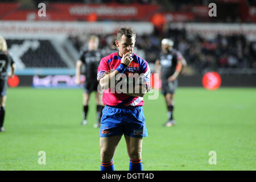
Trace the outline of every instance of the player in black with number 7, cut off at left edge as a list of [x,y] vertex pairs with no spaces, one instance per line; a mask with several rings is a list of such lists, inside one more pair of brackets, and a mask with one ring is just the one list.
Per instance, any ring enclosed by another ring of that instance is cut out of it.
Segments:
[[[11,72],[8,74],[8,68],[11,66]],[[0,132],[5,131],[3,122],[5,119],[5,102],[7,79],[13,77],[15,72],[15,63],[9,53],[7,53],[7,44],[5,39],[0,36]]]

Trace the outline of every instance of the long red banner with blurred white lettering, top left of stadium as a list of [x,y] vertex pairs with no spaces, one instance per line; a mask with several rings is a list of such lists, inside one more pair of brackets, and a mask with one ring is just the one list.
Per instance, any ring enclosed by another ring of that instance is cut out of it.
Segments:
[[84,3],[46,3],[46,16],[38,16],[37,7],[24,10],[19,3],[0,3],[2,20],[141,20],[150,21],[159,10],[158,5],[110,3],[106,5]]

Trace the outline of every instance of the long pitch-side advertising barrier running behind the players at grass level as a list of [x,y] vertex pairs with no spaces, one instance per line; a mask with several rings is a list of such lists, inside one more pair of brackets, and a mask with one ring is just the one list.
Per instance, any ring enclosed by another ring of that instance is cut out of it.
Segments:
[[[256,87],[255,73],[223,73],[221,76],[221,87]],[[18,81],[15,80],[15,86],[32,86],[34,88],[73,88],[80,89],[82,86],[77,86],[75,83],[75,69],[23,69],[17,70],[16,74]],[[202,79],[204,75],[180,75],[178,77],[179,86],[188,87],[203,87]],[[81,77],[84,81],[86,78]],[[160,83],[155,83],[154,74],[151,75],[151,87]],[[17,84],[18,82],[18,84]],[[9,86],[11,86],[9,82]],[[13,87],[15,87],[13,86]]]

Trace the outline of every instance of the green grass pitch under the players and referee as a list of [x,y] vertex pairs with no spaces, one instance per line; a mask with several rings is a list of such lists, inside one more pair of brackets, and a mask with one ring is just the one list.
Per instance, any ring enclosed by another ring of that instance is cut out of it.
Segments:
[[[9,88],[0,170],[100,170],[94,96],[88,125],[81,126],[82,90]],[[162,126],[167,119],[163,96],[145,100],[144,170],[256,169],[255,88],[178,88],[177,125],[170,128]],[[46,165],[38,164],[39,151],[46,152]],[[216,151],[216,165],[208,163],[209,151]],[[129,169],[123,137],[114,164],[116,170]]]

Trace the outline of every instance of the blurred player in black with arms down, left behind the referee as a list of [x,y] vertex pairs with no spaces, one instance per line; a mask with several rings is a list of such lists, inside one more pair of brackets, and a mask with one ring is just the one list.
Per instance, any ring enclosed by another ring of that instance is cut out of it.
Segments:
[[[98,81],[97,81],[97,71],[98,65],[101,61],[101,52],[98,51],[99,39],[96,35],[92,35],[88,41],[88,50],[82,51],[80,53],[80,59],[76,63],[76,84],[81,84],[80,75],[81,67],[85,65],[85,82],[84,82],[84,99],[83,99],[83,120],[81,125],[87,124],[87,113],[88,113],[88,103],[90,98],[90,93],[96,92],[96,104],[97,104],[97,122],[94,127],[100,127],[100,119],[102,115],[102,109],[104,105],[102,104],[101,98],[102,94],[98,92]],[[100,88],[100,86],[99,86]]]

